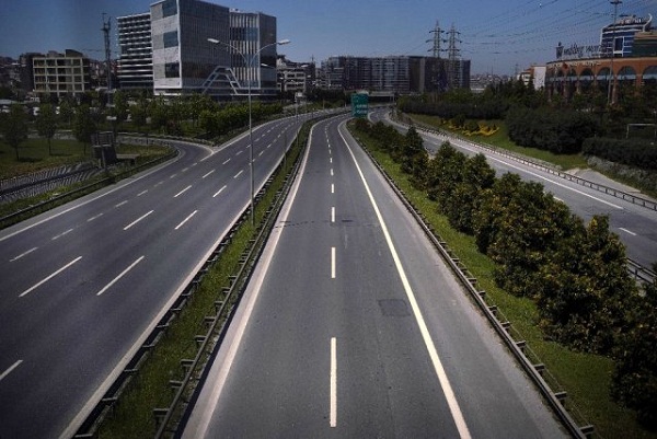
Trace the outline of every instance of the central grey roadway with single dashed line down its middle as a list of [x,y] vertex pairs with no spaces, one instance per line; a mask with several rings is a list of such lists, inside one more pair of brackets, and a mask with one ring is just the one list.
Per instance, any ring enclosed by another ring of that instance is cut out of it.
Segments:
[[558,438],[414,219],[322,122],[184,438]]

